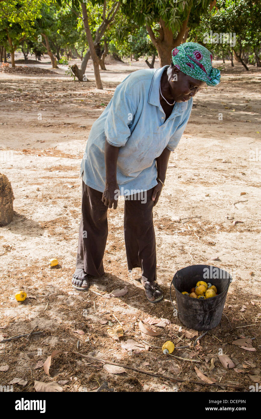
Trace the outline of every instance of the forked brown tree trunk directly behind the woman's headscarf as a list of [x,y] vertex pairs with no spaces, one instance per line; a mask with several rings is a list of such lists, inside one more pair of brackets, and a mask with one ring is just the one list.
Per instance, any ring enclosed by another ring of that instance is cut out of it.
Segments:
[[182,42],[184,42],[184,39],[186,40],[186,37],[188,36],[187,23],[189,20],[189,13],[186,20],[183,21],[181,29],[178,32],[176,39],[173,38],[173,32],[166,26],[162,18],[160,18],[159,36],[157,38],[152,30],[152,27],[148,24],[146,25],[152,44],[157,48],[158,56],[160,59],[160,67],[163,67],[164,65],[169,65],[171,63],[172,49],[182,44]]

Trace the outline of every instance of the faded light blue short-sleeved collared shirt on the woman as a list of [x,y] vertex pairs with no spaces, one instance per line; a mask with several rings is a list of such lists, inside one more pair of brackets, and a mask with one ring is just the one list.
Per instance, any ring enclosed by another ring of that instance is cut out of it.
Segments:
[[117,182],[121,195],[149,190],[158,184],[156,158],[165,147],[174,151],[189,120],[193,98],[175,103],[165,121],[160,105],[160,79],[168,66],[132,72],[115,89],[103,113],[93,123],[81,174],[97,191],[105,186],[105,141],[120,147]]

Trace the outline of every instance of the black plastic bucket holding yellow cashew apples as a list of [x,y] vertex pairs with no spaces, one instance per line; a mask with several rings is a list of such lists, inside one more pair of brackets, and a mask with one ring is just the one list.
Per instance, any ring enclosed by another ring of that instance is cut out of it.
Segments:
[[[212,285],[215,285],[218,295],[206,300],[200,300],[181,294],[183,291],[189,292],[198,281],[210,282]],[[222,317],[231,281],[232,277],[228,272],[210,265],[191,265],[176,272],[171,285],[173,284],[176,290],[180,321],[186,327],[194,330],[210,330],[217,327]],[[176,308],[174,305],[173,307]]]

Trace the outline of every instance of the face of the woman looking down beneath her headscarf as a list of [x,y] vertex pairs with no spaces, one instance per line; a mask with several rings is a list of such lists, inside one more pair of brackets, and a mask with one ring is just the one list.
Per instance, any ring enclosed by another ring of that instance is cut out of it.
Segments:
[[[191,96],[195,96],[199,89],[206,85],[204,81],[196,80],[186,75],[175,66],[169,67],[167,74],[171,96],[176,102],[189,101]],[[172,78],[174,79],[173,82],[171,81]]]

